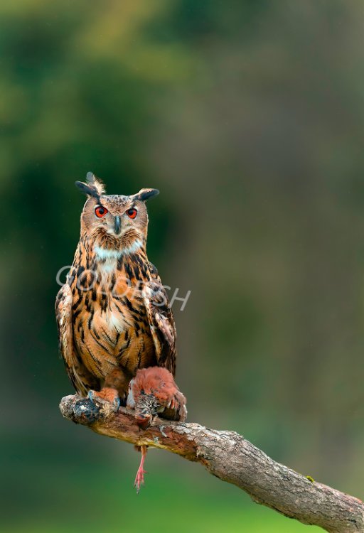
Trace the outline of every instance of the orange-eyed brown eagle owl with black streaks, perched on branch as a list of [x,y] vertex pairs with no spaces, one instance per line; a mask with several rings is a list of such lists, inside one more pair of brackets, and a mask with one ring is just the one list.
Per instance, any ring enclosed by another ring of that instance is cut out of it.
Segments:
[[119,407],[139,368],[176,367],[176,328],[166,291],[146,256],[145,201],[159,193],[106,195],[92,173],[80,242],[55,308],[60,353],[76,391]]

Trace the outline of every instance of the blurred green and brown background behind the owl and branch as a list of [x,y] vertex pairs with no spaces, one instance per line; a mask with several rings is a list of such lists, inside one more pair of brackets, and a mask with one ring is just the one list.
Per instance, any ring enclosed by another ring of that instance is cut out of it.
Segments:
[[4,532],[300,532],[198,465],[64,421],[55,275],[93,171],[156,187],[189,419],[363,498],[364,6],[2,0]]

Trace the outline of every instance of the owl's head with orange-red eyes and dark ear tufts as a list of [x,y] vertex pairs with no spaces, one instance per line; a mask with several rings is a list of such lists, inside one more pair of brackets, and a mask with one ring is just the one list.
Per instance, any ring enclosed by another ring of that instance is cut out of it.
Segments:
[[105,186],[91,172],[86,182],[76,186],[87,195],[81,215],[81,233],[98,247],[132,252],[145,244],[148,213],[145,201],[159,194],[157,189],[141,189],[139,193],[106,195]]

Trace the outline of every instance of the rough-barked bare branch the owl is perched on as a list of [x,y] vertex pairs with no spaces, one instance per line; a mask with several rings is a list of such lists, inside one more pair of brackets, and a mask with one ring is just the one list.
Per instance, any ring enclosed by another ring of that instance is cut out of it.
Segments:
[[331,533],[364,532],[363,502],[276,463],[234,431],[161,419],[141,431],[132,411],[121,408],[115,414],[105,404],[91,404],[77,396],[63,398],[60,411],[100,435],[163,448],[201,463],[221,480],[245,490],[255,502],[304,524]]

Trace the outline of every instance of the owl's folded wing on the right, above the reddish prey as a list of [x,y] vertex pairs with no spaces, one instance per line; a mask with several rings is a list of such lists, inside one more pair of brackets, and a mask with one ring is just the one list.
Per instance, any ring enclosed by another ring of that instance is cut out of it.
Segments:
[[156,348],[156,360],[171,374],[176,372],[176,325],[166,290],[156,268],[151,265],[151,280],[144,284],[143,300]]

